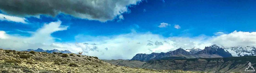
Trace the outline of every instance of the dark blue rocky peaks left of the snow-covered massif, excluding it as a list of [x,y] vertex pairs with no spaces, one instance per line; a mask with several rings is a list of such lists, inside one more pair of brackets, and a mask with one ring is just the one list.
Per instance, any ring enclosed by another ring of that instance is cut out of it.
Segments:
[[[150,56],[151,55],[151,56]],[[152,56],[153,55],[153,56]],[[213,57],[232,57],[232,54],[222,46],[212,45],[205,47],[204,50],[198,48],[192,49],[176,49],[169,52],[151,53],[151,54],[136,54],[131,60],[149,61],[159,60],[165,57],[182,57],[182,58],[213,58]],[[177,59],[177,58],[175,58]]]

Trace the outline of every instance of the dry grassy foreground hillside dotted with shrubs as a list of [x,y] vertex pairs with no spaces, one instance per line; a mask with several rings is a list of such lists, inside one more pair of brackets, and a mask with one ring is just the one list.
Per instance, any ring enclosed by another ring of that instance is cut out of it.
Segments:
[[3,73],[196,73],[117,66],[97,57],[76,54],[21,52],[0,49]]

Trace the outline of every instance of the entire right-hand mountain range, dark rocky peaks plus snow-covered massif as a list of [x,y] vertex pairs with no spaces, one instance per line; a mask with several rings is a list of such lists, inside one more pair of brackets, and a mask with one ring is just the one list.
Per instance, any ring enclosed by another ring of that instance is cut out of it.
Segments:
[[131,60],[137,61],[149,61],[149,60],[159,60],[165,57],[176,57],[181,58],[214,58],[214,57],[232,57],[232,56],[253,56],[256,55],[256,48],[252,46],[242,47],[225,47],[218,46],[216,44],[209,47],[205,47],[204,50],[199,48],[192,49],[182,49],[178,48],[174,51],[161,52],[161,53],[151,53],[151,54],[136,54]]

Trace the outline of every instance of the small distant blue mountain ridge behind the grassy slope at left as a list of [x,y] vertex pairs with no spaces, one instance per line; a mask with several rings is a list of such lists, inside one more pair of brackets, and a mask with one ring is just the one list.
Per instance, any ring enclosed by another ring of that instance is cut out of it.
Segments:
[[62,50],[57,50],[57,49],[53,49],[53,50],[43,50],[43,49],[41,49],[41,48],[38,48],[38,49],[36,49],[36,50],[33,50],[33,49],[28,49],[28,50],[24,50],[24,51],[35,51],[35,52],[47,52],[47,53],[53,53],[53,52],[61,52],[61,53],[72,53],[72,52],[70,52],[69,50],[64,50],[64,51],[62,51]]

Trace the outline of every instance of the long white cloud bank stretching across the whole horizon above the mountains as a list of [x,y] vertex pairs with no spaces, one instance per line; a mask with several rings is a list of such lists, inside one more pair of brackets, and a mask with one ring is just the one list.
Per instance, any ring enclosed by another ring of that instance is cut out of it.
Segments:
[[[256,46],[256,32],[234,31],[217,36],[197,37],[163,37],[151,32],[112,35],[112,36],[83,36],[77,35],[76,40],[83,42],[56,42],[57,37],[51,34],[68,30],[68,26],[61,25],[61,21],[45,23],[32,36],[17,36],[0,31],[0,46],[4,49],[26,50],[42,48],[44,50],[69,50],[81,52],[100,59],[131,59],[137,53],[168,52],[177,48],[204,49],[212,44],[224,46]],[[138,44],[140,42],[140,44]],[[151,43],[151,44],[148,44]],[[153,43],[153,44],[152,44]]]

